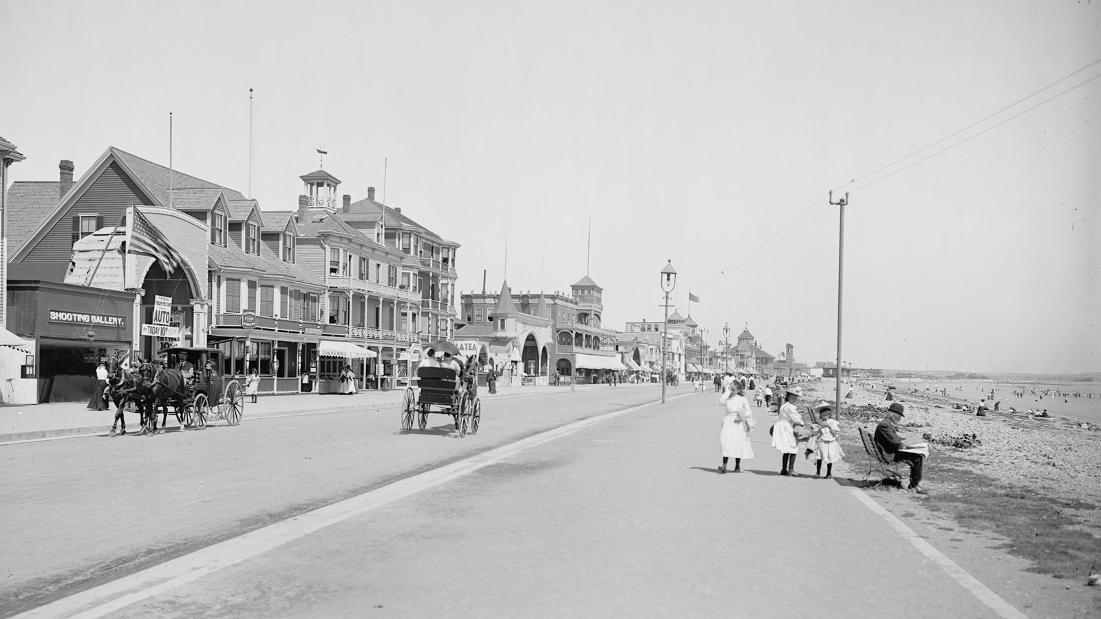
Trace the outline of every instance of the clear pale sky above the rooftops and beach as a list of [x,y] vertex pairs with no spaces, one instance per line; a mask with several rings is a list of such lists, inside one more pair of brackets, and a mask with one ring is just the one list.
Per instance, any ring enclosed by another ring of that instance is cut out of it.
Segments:
[[264,210],[324,148],[461,291],[588,271],[622,329],[672,260],[712,345],[811,363],[848,191],[843,361],[1101,371],[1101,2],[0,0],[0,45],[14,181],[167,164],[171,111],[174,166],[248,194],[253,88]]

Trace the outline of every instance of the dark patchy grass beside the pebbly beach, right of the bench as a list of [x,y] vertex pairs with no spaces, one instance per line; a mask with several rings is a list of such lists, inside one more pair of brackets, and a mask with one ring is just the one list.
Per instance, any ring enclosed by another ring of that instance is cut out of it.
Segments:
[[961,526],[1005,537],[1001,547],[1032,561],[1032,572],[1084,580],[1101,557],[1101,539],[1083,530],[1075,512],[1097,506],[999,484],[970,466],[967,458],[948,454],[927,461],[925,477],[936,481],[937,490],[928,495],[926,507],[949,514]]

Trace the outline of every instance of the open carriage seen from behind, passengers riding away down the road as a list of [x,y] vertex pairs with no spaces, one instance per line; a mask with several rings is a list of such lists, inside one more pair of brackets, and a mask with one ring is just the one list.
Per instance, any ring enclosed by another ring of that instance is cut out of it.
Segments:
[[[437,348],[439,349],[439,348]],[[458,350],[456,349],[456,352]],[[472,360],[471,360],[472,361]],[[478,381],[469,366],[461,371],[451,367],[417,368],[417,387],[405,389],[402,399],[402,432],[413,431],[413,417],[422,431],[428,425],[428,414],[450,415],[459,436],[478,434],[481,423],[481,399],[478,397]]]

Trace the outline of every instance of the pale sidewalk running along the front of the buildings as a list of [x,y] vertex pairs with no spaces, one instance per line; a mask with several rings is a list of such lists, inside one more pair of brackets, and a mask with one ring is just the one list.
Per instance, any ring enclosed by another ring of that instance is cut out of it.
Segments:
[[[608,387],[595,384],[578,389],[600,388],[607,389]],[[499,387],[495,394],[490,394],[486,388],[479,388],[478,395],[483,400],[495,400],[539,393],[568,392],[569,389],[565,387]],[[360,391],[351,397],[335,393],[260,395],[255,404],[246,399],[241,423],[248,423],[250,419],[273,416],[392,409],[401,404],[404,394],[404,390],[393,389],[389,391]],[[0,408],[0,445],[50,438],[94,436],[110,432],[111,422],[115,420],[113,405],[110,411],[89,411],[86,406],[85,402],[58,402]],[[141,430],[135,413],[127,413],[126,421],[127,432]],[[179,427],[175,415],[168,415],[167,427]]]

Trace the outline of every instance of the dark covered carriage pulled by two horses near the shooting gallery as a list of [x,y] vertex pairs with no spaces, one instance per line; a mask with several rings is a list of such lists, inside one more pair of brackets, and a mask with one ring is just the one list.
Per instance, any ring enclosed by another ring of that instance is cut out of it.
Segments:
[[222,351],[217,348],[166,348],[168,367],[177,370],[182,384],[170,383],[163,400],[172,401],[184,426],[205,427],[210,419],[229,425],[241,423],[244,390],[232,377],[224,377]]

